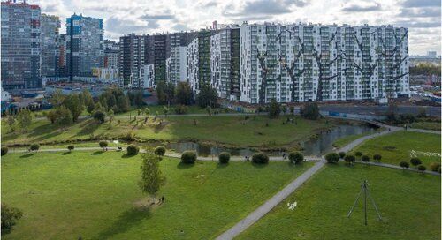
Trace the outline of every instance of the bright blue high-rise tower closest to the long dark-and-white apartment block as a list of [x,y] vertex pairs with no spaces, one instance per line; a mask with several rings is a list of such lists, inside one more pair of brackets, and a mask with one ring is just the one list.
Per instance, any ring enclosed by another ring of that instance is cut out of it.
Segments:
[[103,67],[103,19],[73,14],[66,19],[67,68],[74,77],[90,77]]

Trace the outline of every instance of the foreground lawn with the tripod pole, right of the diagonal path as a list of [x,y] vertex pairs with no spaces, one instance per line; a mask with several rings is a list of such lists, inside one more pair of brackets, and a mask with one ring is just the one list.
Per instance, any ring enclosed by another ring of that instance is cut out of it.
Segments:
[[[325,166],[237,239],[440,239],[440,176],[339,165]],[[347,218],[361,179],[369,181],[383,217],[377,221],[368,202],[368,226],[362,199]],[[294,201],[298,205],[291,211],[287,203]]]

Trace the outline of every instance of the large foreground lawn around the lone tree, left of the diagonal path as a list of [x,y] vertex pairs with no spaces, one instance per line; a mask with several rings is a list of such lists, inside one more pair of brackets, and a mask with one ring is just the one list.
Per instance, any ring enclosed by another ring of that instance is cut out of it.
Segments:
[[240,221],[311,163],[165,158],[165,203],[141,211],[141,157],[117,152],[6,154],[2,203],[24,217],[4,239],[208,239]]

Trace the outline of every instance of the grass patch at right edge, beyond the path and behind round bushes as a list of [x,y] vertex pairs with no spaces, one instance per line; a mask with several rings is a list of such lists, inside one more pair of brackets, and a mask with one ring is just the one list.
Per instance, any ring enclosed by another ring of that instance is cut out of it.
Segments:
[[440,154],[440,135],[413,131],[397,131],[375,139],[370,139],[357,146],[353,152],[361,151],[368,154],[381,154],[382,162],[399,165],[400,161],[409,161],[411,151],[417,151],[417,157],[423,164],[430,167],[431,162],[440,162],[440,156],[428,156],[423,153]]

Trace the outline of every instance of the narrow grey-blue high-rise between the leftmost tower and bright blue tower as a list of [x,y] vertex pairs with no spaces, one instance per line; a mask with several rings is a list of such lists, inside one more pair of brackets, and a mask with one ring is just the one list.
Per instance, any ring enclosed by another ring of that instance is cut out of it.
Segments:
[[41,27],[42,77],[55,77],[59,75],[60,19],[57,16],[42,14]]

